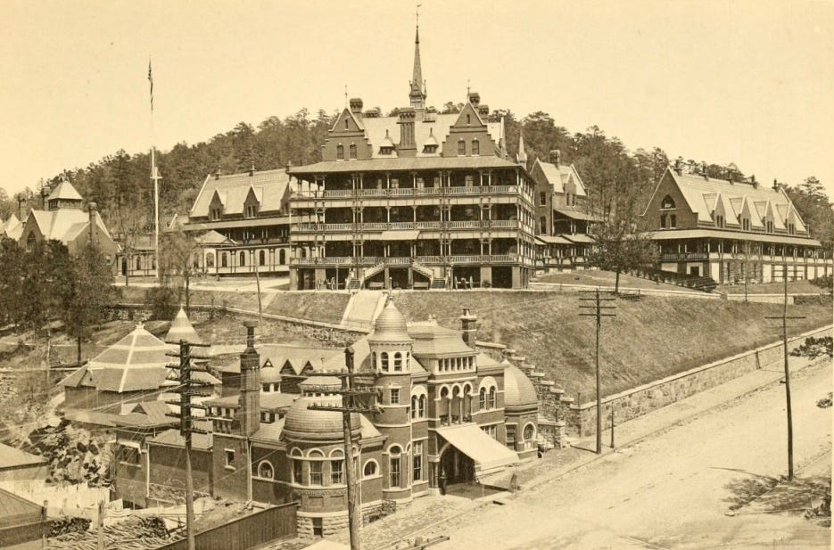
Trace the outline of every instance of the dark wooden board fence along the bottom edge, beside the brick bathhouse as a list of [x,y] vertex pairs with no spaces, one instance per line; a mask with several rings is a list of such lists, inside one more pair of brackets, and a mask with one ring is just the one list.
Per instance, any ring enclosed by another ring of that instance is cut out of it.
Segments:
[[[238,520],[197,533],[196,547],[200,550],[247,550],[261,546],[271,540],[295,538],[297,524],[295,513],[299,503],[277,505],[261,512],[251,513]],[[185,538],[156,550],[187,550]]]

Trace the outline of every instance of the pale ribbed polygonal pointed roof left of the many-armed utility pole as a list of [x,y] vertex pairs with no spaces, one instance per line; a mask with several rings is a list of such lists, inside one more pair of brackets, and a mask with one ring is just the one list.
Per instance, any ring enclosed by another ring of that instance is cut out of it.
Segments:
[[142,324],[90,360],[87,369],[99,391],[157,390],[165,382],[171,347]]

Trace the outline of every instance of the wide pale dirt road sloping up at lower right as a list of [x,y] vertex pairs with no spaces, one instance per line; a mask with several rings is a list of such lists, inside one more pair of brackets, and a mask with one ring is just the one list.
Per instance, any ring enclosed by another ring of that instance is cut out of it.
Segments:
[[[831,365],[792,379],[798,477],[830,475],[831,415],[816,401]],[[443,525],[443,548],[814,548],[830,529],[800,513],[728,516],[787,472],[784,386],[761,390],[697,420],[605,456]],[[822,461],[822,462],[821,462]],[[822,464],[822,468],[820,466]]]

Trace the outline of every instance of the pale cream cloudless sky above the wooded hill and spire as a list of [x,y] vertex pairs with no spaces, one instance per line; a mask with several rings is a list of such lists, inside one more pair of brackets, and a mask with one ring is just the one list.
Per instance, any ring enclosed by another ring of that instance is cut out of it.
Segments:
[[[415,3],[4,0],[4,182],[152,142],[168,150],[240,121],[408,104]],[[547,111],[631,150],[735,161],[834,197],[834,2],[422,0],[429,105]],[[165,176],[164,174],[162,175]],[[164,185],[164,182],[163,182]]]

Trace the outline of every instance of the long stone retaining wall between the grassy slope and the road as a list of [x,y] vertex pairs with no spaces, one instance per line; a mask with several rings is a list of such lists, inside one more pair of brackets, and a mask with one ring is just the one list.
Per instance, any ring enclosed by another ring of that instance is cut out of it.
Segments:
[[[830,335],[831,328],[829,325],[791,338],[789,348],[797,347],[809,336]],[[688,398],[699,391],[708,390],[723,382],[728,382],[742,374],[768,366],[781,366],[782,357],[781,343],[775,342],[680,374],[667,376],[632,390],[608,396],[602,400],[602,411],[605,416],[603,425],[605,429],[610,428],[612,408],[614,409],[615,424],[623,423],[637,416],[645,415],[658,407],[669,405],[679,399]],[[559,418],[566,421],[569,433],[580,437],[589,435],[596,430],[596,401],[560,407]]]

